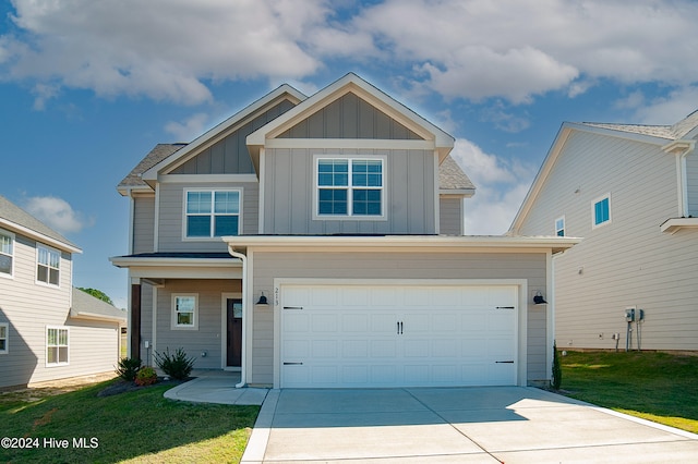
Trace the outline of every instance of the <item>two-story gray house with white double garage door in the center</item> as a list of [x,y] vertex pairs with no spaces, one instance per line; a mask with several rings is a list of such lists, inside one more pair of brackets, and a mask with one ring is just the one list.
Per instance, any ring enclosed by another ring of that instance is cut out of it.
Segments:
[[354,74],[282,85],[119,184],[130,354],[275,388],[550,378],[552,255],[568,237],[462,236],[454,139]]

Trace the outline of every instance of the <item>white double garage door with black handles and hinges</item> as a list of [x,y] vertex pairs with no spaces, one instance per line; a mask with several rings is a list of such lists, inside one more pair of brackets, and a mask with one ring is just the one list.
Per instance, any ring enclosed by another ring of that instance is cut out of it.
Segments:
[[282,388],[516,384],[515,285],[284,285]]

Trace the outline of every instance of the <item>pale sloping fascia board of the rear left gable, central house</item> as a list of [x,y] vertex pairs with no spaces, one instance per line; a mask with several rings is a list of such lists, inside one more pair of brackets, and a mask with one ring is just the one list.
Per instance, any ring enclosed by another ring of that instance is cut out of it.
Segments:
[[240,124],[241,122],[252,118],[256,112],[264,109],[264,107],[268,106],[274,100],[282,97],[285,94],[290,95],[293,99],[301,102],[305,100],[308,97],[296,88],[291,87],[288,84],[282,84],[276,89],[272,90],[264,97],[258,100],[252,102],[246,106],[242,110],[238,111],[227,120],[222,121],[215,127],[206,131],[204,134],[200,135],[195,139],[193,139],[190,144],[182,147],[178,151],[176,151],[174,158],[168,157],[153,166],[151,169],[145,171],[142,175],[144,181],[157,181],[157,174],[165,170],[166,168],[176,167],[184,162],[183,160],[188,159],[190,155],[200,150],[203,146],[217,141],[225,132],[229,131],[231,127]]

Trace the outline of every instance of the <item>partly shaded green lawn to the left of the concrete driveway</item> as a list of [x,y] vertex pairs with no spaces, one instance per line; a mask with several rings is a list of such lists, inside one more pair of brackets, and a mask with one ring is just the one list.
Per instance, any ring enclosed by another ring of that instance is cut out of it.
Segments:
[[[0,448],[0,462],[239,462],[260,412],[260,406],[166,400],[163,393],[171,386],[98,398],[109,383],[31,403],[0,396],[0,435],[38,444]],[[67,449],[51,448],[65,443],[60,440],[68,440]]]

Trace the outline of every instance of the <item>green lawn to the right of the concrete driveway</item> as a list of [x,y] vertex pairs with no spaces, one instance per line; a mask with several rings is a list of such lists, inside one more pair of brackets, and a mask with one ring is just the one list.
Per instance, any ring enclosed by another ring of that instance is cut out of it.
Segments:
[[698,356],[567,352],[568,396],[698,434]]

